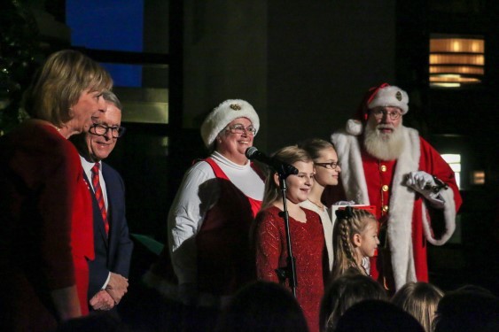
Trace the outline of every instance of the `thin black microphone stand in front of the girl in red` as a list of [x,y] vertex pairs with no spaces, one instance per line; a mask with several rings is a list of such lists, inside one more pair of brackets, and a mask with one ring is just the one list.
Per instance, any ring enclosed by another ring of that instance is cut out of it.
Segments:
[[296,260],[292,256],[292,244],[291,235],[289,231],[289,214],[287,211],[286,204],[286,178],[290,175],[285,172],[284,169],[278,169],[277,174],[279,174],[279,184],[281,187],[281,192],[283,196],[283,212],[279,212],[279,216],[285,220],[285,234],[287,240],[287,259],[286,266],[277,268],[276,273],[279,282],[284,283],[286,279],[289,280],[289,287],[292,290],[292,295],[296,297]]

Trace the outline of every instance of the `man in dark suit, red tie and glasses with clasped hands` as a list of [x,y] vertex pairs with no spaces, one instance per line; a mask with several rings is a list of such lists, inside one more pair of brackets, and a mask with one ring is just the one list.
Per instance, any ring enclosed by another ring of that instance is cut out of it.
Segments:
[[125,188],[120,174],[103,159],[123,135],[121,103],[105,92],[106,110],[93,118],[89,132],[74,140],[93,201],[95,259],[89,262],[89,303],[93,310],[110,310],[128,290],[133,243],[125,217]]

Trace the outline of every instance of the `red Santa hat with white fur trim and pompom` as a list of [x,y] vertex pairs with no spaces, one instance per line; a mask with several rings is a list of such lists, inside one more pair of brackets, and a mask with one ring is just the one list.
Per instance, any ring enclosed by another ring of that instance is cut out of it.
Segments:
[[404,90],[392,86],[388,83],[383,83],[377,87],[370,88],[363,97],[362,103],[357,109],[355,119],[347,121],[347,133],[350,135],[361,135],[363,132],[363,124],[367,120],[370,109],[378,106],[398,107],[402,111],[402,115],[409,111],[409,96]]

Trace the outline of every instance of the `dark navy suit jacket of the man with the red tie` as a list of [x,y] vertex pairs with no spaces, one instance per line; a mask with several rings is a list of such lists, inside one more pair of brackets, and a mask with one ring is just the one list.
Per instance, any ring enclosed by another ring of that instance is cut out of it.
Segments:
[[133,243],[129,237],[129,226],[125,217],[125,185],[123,179],[113,167],[104,162],[102,163],[102,175],[107,193],[109,236],[106,237],[105,235],[104,220],[102,220],[95,194],[90,189],[94,211],[95,259],[89,262],[89,300],[102,288],[109,272],[121,274],[126,278],[129,277],[130,259],[133,250]]

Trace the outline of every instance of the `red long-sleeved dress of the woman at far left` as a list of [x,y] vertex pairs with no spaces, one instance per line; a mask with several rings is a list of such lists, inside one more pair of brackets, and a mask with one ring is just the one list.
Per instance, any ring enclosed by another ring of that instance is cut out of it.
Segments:
[[0,188],[0,326],[55,328],[51,291],[74,284],[88,313],[92,208],[73,144],[46,122],[28,120],[1,139]]

